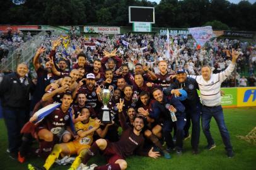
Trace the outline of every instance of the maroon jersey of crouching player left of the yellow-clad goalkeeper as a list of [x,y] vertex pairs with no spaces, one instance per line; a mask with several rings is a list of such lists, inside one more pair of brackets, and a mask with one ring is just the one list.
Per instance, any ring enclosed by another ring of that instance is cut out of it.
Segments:
[[61,132],[63,127],[69,126],[70,122],[68,110],[64,113],[61,110],[61,106],[56,108],[50,115],[46,116],[42,122],[38,125],[38,130],[42,128],[47,128],[54,135]]

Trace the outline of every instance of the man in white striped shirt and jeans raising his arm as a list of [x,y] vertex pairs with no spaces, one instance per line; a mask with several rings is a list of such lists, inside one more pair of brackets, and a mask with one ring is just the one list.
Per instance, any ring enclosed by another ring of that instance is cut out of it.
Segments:
[[210,132],[210,122],[212,116],[216,120],[219,131],[221,132],[221,137],[225,145],[228,157],[233,157],[234,153],[232,150],[232,145],[230,142],[230,134],[226,128],[223,116],[223,109],[221,107],[221,82],[223,82],[226,77],[231,75],[231,72],[235,69],[236,59],[239,53],[232,50],[232,61],[228,65],[226,70],[219,72],[218,74],[212,74],[211,67],[209,65],[203,65],[201,76],[190,76],[193,77],[198,85],[201,92],[202,100],[202,130],[204,135],[206,135],[207,143],[206,149],[213,149],[216,147],[214,140],[212,139]]

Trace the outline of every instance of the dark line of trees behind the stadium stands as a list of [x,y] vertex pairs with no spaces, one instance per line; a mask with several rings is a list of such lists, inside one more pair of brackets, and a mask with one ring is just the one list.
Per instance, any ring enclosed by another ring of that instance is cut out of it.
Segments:
[[256,3],[226,0],[26,0],[21,5],[8,0],[1,2],[0,24],[131,26],[128,6],[153,6],[154,27],[256,31]]

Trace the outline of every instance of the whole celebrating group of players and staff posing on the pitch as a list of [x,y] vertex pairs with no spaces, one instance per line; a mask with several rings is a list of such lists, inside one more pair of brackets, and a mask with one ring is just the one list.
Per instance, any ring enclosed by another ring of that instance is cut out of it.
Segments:
[[[206,149],[216,147],[209,130],[212,117],[218,123],[227,156],[234,156],[220,88],[235,68],[239,55],[235,50],[225,71],[212,74],[211,67],[203,65],[201,76],[190,76],[182,68],[170,74],[165,60],[158,63],[159,74],[142,64],[136,64],[132,74],[116,50],[105,51],[103,59],[93,64],[88,64],[86,55],[80,53],[78,63],[67,71],[65,60],[55,60],[59,44],[59,40],[53,43],[45,66],[40,64],[45,48],[38,48],[33,58],[37,82],[26,76],[28,66],[22,63],[0,84],[10,156],[25,162],[28,148],[36,139],[37,154],[46,157],[43,167],[29,164],[28,169],[50,169],[64,156],[76,156],[70,169],[126,169],[125,158],[134,154],[170,159],[170,153],[182,154],[183,140],[190,137],[190,122],[192,153],[199,154],[201,119]],[[108,103],[110,123],[102,123],[103,89],[112,93]],[[26,110],[32,90],[33,115],[29,120]],[[14,123],[15,119],[18,122]],[[22,137],[17,135],[21,128]],[[107,157],[108,164],[88,166],[86,163],[98,152]]]

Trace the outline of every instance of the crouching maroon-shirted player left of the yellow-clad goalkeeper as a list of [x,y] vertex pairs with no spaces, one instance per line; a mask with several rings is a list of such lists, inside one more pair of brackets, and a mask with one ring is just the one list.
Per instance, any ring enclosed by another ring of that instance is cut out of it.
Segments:
[[[71,139],[72,122],[70,117],[69,107],[73,102],[71,93],[65,93],[62,97],[62,104],[52,113],[47,115],[42,122],[39,122],[36,127],[36,136],[40,141],[40,154],[47,156],[50,154],[54,144],[62,140],[68,142]],[[30,118],[30,122],[37,121],[38,115],[34,114]]]

